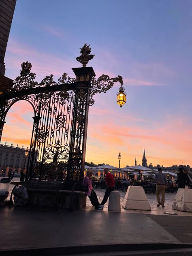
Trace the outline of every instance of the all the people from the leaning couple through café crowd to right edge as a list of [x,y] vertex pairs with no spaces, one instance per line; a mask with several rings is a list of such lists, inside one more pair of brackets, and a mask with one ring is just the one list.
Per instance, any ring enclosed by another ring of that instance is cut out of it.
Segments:
[[[134,179],[120,179],[114,177],[109,173],[109,169],[104,169],[105,180],[103,177],[100,177],[99,180],[92,178],[92,171],[88,170],[87,174],[83,179],[83,185],[88,187],[87,196],[89,196],[90,201],[95,209],[102,210],[109,194],[111,191],[117,190],[127,190],[128,186],[142,186],[145,192],[156,193],[157,197],[157,207],[160,205],[164,207],[165,202],[165,192],[177,192],[179,188],[192,188],[192,179],[188,175],[188,170],[183,170],[179,168],[179,173],[177,173],[177,180],[175,182],[170,182],[167,180],[166,175],[162,173],[162,169],[158,168],[158,173],[155,174],[154,181],[143,181],[143,180],[134,180]],[[104,198],[101,203],[98,202],[98,198],[94,188],[106,188]],[[161,198],[160,198],[161,195]]]

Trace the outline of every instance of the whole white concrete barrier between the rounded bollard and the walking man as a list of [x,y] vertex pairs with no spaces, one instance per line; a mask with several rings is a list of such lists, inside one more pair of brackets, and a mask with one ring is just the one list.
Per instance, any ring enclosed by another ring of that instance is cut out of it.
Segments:
[[124,201],[124,209],[151,210],[143,187],[129,186]]

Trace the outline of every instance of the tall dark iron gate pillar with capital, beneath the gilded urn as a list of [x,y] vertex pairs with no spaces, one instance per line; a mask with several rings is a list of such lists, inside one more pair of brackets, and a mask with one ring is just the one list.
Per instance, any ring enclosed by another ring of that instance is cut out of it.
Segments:
[[[67,181],[81,181],[84,175],[85,148],[89,111],[91,80],[95,76],[92,67],[72,68],[78,88],[75,91],[70,152],[67,167]],[[73,183],[73,182],[72,182]]]

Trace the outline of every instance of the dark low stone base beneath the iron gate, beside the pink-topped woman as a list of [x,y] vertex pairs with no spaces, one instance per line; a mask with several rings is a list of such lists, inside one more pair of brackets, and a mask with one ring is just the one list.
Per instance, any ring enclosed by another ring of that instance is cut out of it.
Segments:
[[64,190],[61,181],[27,181],[29,205],[59,209],[82,209],[86,207],[86,194],[81,191]]

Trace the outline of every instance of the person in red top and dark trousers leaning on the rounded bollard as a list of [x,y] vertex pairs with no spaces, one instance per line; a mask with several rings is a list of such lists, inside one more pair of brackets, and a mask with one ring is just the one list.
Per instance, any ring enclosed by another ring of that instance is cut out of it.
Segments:
[[107,186],[107,189],[105,191],[104,198],[103,198],[102,202],[100,203],[100,208],[104,207],[105,203],[107,202],[107,199],[109,197],[110,192],[115,190],[115,178],[114,178],[114,176],[111,173],[109,173],[108,168],[104,169],[104,173],[105,173],[105,184]]

